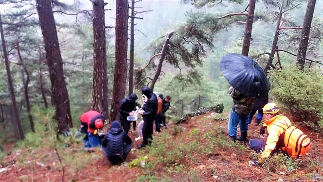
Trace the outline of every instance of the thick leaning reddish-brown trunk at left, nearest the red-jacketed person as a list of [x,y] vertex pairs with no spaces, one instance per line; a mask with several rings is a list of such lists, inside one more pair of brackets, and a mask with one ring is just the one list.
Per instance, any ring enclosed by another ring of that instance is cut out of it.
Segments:
[[36,8],[44,39],[49,77],[52,83],[51,100],[56,109],[54,119],[58,122],[57,134],[63,134],[69,131],[67,116],[72,117],[51,0],[36,0]]

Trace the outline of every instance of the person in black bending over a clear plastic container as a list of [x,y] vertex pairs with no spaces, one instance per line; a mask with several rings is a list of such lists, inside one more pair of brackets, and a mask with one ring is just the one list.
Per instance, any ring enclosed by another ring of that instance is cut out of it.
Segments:
[[131,122],[127,120],[127,116],[133,115],[133,110],[136,110],[136,100],[138,99],[136,93],[131,93],[127,98],[124,98],[120,102],[119,118],[123,130],[128,134]]

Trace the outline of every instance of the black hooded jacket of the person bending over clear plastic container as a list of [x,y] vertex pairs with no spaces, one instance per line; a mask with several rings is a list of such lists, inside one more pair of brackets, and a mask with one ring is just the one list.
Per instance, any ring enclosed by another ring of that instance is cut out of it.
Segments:
[[129,112],[136,109],[136,100],[138,99],[135,93],[131,93],[127,98],[124,98],[120,102],[119,107],[119,117],[127,118],[129,116]]

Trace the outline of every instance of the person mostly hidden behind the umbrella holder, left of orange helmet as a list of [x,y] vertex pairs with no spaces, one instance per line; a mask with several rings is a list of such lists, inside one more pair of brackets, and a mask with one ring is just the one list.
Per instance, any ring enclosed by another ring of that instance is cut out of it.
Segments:
[[251,110],[251,112],[249,113],[249,115],[247,116],[247,123],[250,124],[253,115],[258,111],[256,119],[254,120],[254,125],[258,126],[262,120],[262,116],[263,116],[263,111],[262,108],[264,105],[266,105],[268,103],[268,97],[263,97],[263,98],[258,98],[254,104],[253,104],[253,108]]

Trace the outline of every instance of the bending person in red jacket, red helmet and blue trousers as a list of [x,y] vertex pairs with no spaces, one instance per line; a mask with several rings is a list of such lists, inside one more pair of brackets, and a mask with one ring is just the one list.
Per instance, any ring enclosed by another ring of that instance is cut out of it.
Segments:
[[81,115],[81,133],[86,134],[83,139],[84,147],[97,147],[101,142],[97,130],[104,126],[104,116],[95,110],[90,110]]

